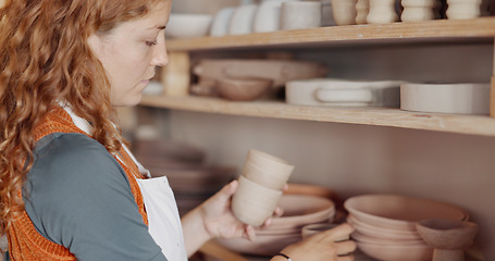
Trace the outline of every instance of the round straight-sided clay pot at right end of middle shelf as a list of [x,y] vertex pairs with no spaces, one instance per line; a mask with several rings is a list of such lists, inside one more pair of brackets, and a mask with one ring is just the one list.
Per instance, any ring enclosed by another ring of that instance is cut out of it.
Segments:
[[490,84],[404,84],[400,86],[400,109],[488,114],[490,89]]

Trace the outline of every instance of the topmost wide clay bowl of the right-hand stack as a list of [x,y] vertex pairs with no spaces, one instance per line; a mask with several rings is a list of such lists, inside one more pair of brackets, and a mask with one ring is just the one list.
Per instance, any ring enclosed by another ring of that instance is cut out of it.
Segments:
[[369,225],[416,231],[425,219],[466,220],[468,213],[453,204],[400,195],[361,195],[347,199],[344,207],[356,220]]

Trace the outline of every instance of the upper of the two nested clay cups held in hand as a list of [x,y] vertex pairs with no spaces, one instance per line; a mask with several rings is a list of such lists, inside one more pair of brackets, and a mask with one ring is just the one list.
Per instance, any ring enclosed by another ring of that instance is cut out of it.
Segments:
[[249,150],[243,175],[267,188],[282,190],[287,183],[294,165],[285,160],[259,150]]

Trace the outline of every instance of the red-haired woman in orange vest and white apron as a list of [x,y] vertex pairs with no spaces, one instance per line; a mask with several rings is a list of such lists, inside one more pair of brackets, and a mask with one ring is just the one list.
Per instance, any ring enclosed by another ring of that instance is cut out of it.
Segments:
[[[168,63],[171,0],[3,4],[0,196],[10,260],[186,260],[213,237],[256,236],[230,210],[236,182],[181,227],[166,178],[158,224],[165,229],[154,233],[146,196],[153,179],[110,120],[113,107],[137,104],[156,67]],[[334,243],[351,231],[343,225],[282,252],[294,261],[352,260],[338,256],[354,251],[352,241]]]

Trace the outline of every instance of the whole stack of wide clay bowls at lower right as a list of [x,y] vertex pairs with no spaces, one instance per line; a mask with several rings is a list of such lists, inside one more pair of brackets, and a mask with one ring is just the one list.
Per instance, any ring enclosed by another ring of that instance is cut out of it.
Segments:
[[432,260],[433,248],[421,239],[416,224],[422,220],[468,220],[455,206],[399,195],[362,195],[344,202],[358,249],[378,260]]

